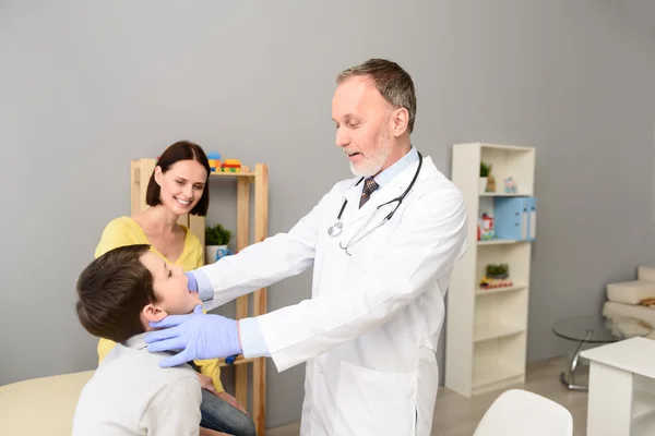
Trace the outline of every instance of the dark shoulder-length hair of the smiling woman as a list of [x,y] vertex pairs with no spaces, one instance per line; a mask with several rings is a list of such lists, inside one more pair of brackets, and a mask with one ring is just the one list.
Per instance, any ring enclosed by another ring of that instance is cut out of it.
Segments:
[[[210,207],[210,173],[212,172],[210,168],[210,161],[207,160],[207,155],[205,155],[202,147],[198,144],[193,144],[189,141],[178,141],[177,143],[169,145],[168,148],[164,150],[162,156],[159,156],[159,160],[157,160],[157,166],[162,168],[162,172],[166,172],[170,166],[179,162],[180,160],[195,160],[207,171],[207,179],[205,180],[205,185],[202,190],[202,196],[200,197],[198,204],[190,211],[191,215],[204,217],[207,215],[207,209]],[[145,203],[148,206],[157,206],[162,204],[162,201],[159,199],[159,185],[155,181],[155,171],[153,171],[145,191]]]

